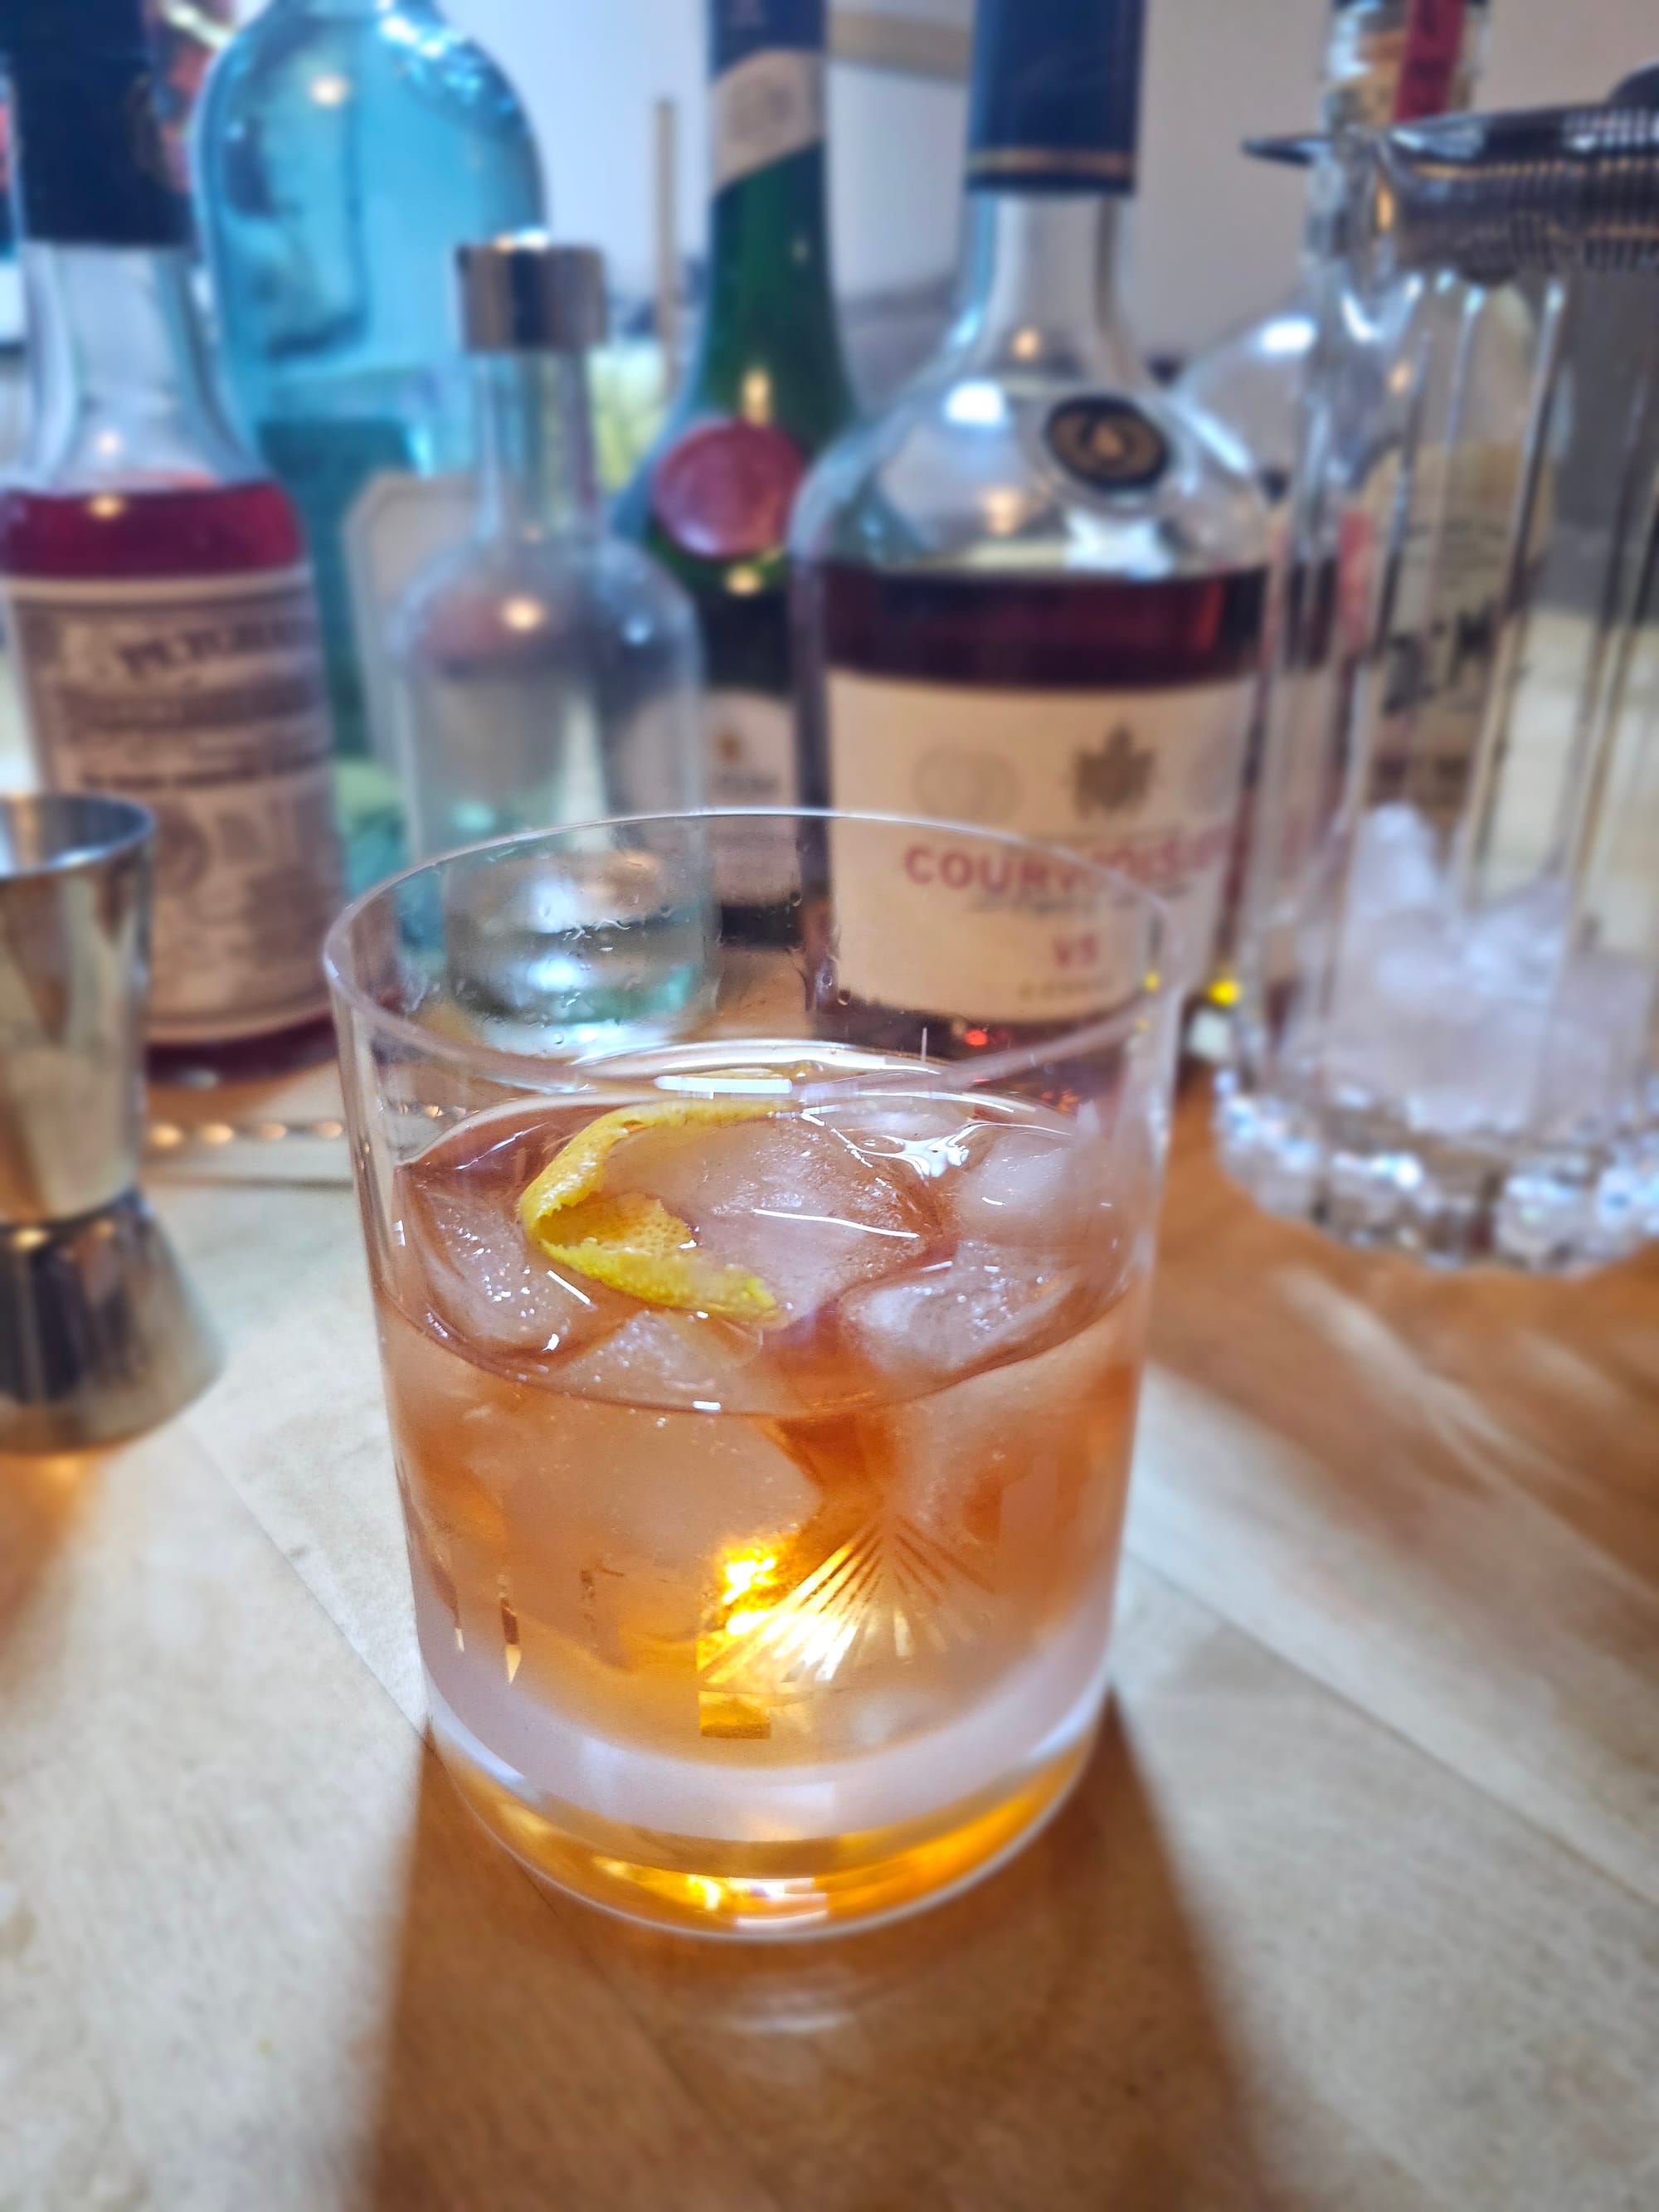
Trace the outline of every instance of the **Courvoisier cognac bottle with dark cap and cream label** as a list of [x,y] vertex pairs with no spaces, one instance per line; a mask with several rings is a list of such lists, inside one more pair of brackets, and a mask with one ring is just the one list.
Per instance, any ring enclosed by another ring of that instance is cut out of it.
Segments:
[[[1267,518],[1157,392],[1117,305],[1139,60],[1141,0],[980,0],[956,325],[796,509],[803,741],[812,799],[1018,830],[1164,894],[1192,984],[1234,834]],[[949,854],[918,867],[896,845],[856,896],[834,836],[830,865],[854,1006],[953,1020],[964,931],[989,1020],[956,1024],[962,1048],[1099,1004],[1064,931]]]

